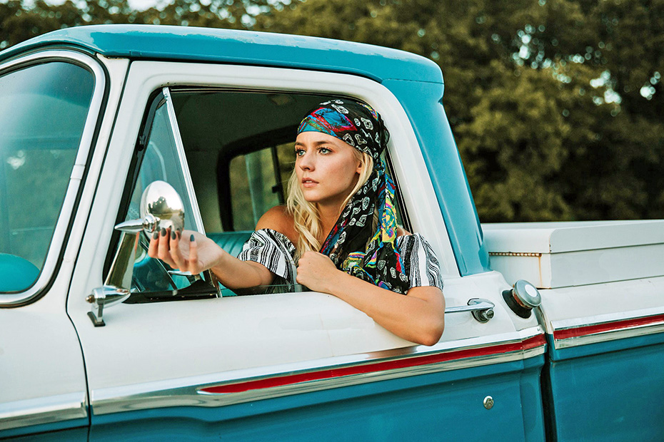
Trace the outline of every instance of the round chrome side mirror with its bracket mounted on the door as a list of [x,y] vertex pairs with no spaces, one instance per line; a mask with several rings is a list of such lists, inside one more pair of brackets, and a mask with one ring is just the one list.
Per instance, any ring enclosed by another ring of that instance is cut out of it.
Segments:
[[141,197],[141,219],[121,222],[120,242],[104,285],[92,291],[86,301],[92,304],[88,316],[95,327],[103,327],[104,307],[123,302],[131,294],[136,247],[141,230],[148,237],[162,228],[184,228],[184,205],[178,192],[164,181],[150,183]]

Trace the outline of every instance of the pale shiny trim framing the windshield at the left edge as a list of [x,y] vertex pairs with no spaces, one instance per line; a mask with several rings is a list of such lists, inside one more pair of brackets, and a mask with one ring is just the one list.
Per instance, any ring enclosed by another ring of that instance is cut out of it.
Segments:
[[49,63],[51,61],[74,62],[73,64],[87,68],[94,76],[94,91],[92,92],[88,115],[86,117],[83,134],[81,135],[79,150],[76,153],[74,166],[69,177],[69,185],[67,186],[60,215],[56,222],[53,237],[51,238],[51,244],[49,244],[49,250],[46,252],[44,266],[41,268],[36,282],[34,282],[34,284],[28,289],[23,292],[15,293],[3,292],[0,296],[0,308],[25,304],[38,297],[54,276],[54,270],[57,267],[56,264],[64,247],[64,237],[69,228],[74,205],[76,205],[76,197],[79,193],[79,188],[81,187],[81,180],[88,160],[88,155],[92,148],[92,140],[94,138],[97,121],[99,120],[101,106],[104,101],[104,91],[106,90],[106,76],[104,74],[104,69],[99,61],[84,53],[62,50],[49,50],[33,53],[21,58],[16,58],[9,61],[9,63],[0,66],[0,75],[8,70],[22,68],[23,66],[21,65],[29,67],[36,63]]

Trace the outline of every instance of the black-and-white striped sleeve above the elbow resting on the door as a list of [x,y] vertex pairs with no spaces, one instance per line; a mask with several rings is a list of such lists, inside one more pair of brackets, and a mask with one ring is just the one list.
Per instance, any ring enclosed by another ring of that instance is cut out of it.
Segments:
[[441,267],[431,245],[419,233],[397,238],[403,262],[403,272],[408,276],[410,287],[432,286],[443,289]]

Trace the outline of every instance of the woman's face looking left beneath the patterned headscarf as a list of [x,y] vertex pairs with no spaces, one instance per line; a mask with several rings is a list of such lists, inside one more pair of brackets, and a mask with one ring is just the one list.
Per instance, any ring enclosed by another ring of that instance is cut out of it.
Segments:
[[308,202],[341,205],[362,171],[356,149],[326,133],[300,133],[295,156],[298,184]]

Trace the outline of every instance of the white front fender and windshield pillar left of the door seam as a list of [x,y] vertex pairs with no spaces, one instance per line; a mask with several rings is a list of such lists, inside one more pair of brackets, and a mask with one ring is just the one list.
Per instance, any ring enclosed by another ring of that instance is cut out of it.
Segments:
[[[109,63],[113,81],[107,115],[115,113],[128,65],[127,61],[120,60]],[[88,184],[79,201],[69,242],[64,245],[64,259],[49,292],[24,307],[0,309],[0,415],[7,418],[1,428],[86,416],[85,408],[76,408],[77,401],[87,403],[87,388],[81,346],[67,316],[66,302],[112,124],[112,118],[106,118],[101,125],[98,146],[102,148],[96,150],[88,165]],[[80,166],[76,165],[72,172],[76,180],[79,180],[79,170]]]

